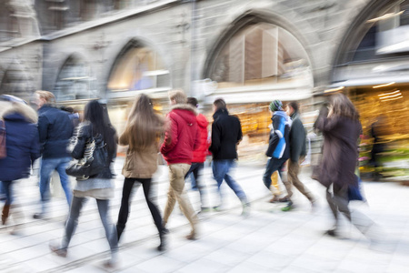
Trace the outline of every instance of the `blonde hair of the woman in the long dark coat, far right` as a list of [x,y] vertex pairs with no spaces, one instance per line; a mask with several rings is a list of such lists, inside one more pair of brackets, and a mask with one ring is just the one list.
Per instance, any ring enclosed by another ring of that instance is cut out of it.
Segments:
[[342,93],[335,94],[330,100],[330,113],[328,116],[344,116],[359,120],[359,113],[352,101]]

